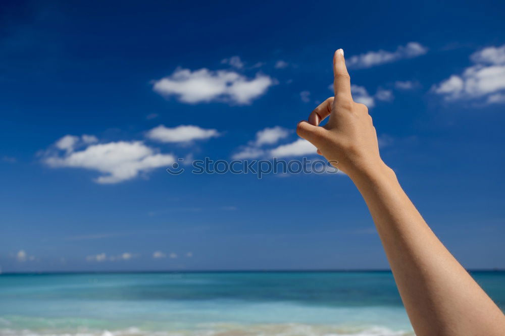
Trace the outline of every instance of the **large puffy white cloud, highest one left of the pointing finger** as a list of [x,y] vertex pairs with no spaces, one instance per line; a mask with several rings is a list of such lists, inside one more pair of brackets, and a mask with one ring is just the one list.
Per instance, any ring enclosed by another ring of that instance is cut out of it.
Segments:
[[176,95],[186,103],[226,101],[249,104],[273,83],[272,78],[263,74],[247,78],[228,70],[177,69],[172,75],[155,81],[153,89],[164,96]]

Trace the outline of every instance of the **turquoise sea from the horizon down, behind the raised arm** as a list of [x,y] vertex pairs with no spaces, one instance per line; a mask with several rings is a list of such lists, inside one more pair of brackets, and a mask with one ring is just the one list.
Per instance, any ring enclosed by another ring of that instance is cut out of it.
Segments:
[[[472,272],[505,308],[505,272]],[[413,335],[389,271],[0,275],[0,335]]]

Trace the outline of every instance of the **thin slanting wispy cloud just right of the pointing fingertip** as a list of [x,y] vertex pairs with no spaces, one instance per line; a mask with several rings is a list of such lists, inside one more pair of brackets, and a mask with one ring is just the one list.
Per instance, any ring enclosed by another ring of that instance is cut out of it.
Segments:
[[418,42],[409,42],[398,46],[395,51],[377,50],[354,55],[346,60],[348,68],[370,68],[373,66],[395,62],[401,59],[414,58],[428,52],[428,48]]

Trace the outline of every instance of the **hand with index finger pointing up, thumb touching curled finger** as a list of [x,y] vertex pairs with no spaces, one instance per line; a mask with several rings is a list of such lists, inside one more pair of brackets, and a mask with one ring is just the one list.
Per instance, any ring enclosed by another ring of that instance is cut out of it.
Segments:
[[[377,166],[385,166],[379,155],[377,133],[368,108],[352,100],[342,49],[333,55],[333,77],[335,96],[316,107],[308,122],[299,122],[296,133],[310,141],[318,148],[318,154],[351,178],[371,172]],[[320,127],[321,121],[328,116],[328,123]]]

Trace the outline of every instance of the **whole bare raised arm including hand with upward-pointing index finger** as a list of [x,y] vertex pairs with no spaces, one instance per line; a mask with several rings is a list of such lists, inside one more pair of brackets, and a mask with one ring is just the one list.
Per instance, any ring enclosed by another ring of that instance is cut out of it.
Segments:
[[505,335],[501,310],[433,234],[380,158],[368,109],[352,100],[342,49],[333,72],[335,96],[300,122],[297,133],[338,161],[363,195],[416,334]]

